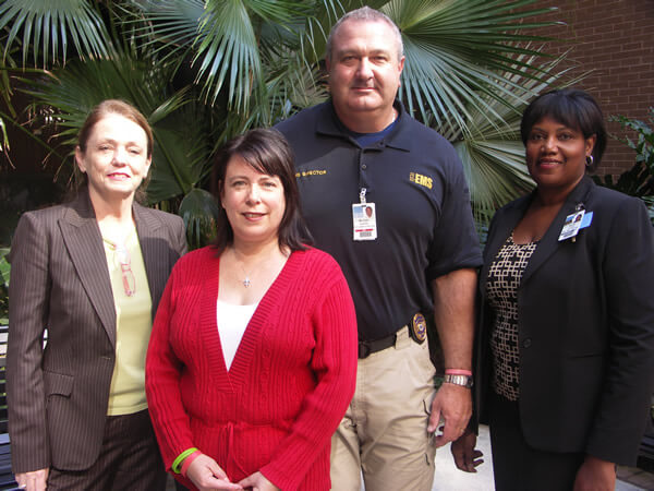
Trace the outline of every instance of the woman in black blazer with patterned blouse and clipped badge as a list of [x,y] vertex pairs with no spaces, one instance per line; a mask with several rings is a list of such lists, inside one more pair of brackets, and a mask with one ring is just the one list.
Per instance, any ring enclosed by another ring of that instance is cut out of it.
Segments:
[[[652,226],[640,200],[585,176],[606,146],[590,95],[542,95],[521,135],[537,187],[493,218],[480,275],[476,396],[496,489],[613,490],[651,405]],[[474,440],[452,446],[463,470]]]

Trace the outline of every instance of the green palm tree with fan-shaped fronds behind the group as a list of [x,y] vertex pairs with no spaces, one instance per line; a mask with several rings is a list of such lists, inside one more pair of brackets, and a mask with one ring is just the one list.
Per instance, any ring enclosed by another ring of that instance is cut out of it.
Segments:
[[[529,99],[562,74],[557,60],[537,64],[542,53],[530,45],[545,40],[529,33],[552,24],[538,21],[550,9],[533,8],[535,0],[366,3],[400,27],[407,62],[399,97],[456,145],[477,215],[529,188],[517,121]],[[326,36],[361,4],[3,0],[2,68],[40,70],[36,81],[13,83],[26,84],[35,108],[47,108],[44,123],[58,128],[64,155],[99,100],[121,97],[138,107],[156,139],[150,202],[180,208],[197,239],[211,209],[202,185],[217,145],[325,100]]]

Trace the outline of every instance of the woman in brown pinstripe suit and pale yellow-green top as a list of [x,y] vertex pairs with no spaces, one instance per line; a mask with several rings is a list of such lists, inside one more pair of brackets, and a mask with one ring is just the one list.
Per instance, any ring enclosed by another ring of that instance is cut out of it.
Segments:
[[186,244],[180,217],[134,202],[152,153],[143,115],[105,100],[75,149],[87,185],[16,228],[7,388],[13,471],[27,490],[165,486],[145,350]]

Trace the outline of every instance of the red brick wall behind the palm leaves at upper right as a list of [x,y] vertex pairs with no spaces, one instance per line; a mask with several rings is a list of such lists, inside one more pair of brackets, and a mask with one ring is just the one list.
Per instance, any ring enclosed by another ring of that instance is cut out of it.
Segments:
[[[566,23],[544,32],[564,43],[545,49],[579,64],[573,74],[593,70],[576,84],[591,93],[604,115],[623,115],[645,121],[654,106],[654,0],[540,0],[536,8],[558,7],[547,19]],[[623,135],[617,123],[609,133]],[[620,173],[634,161],[634,152],[609,139],[600,173]]]

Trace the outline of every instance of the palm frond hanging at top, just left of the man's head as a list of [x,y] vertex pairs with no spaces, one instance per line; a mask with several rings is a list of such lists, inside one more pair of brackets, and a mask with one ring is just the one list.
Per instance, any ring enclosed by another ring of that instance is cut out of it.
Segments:
[[142,39],[164,43],[157,49],[167,56],[192,53],[205,100],[237,111],[246,111],[263,87],[261,46],[275,49],[280,33],[292,32],[308,14],[308,4],[279,0],[146,1],[142,9],[149,23],[138,33]]

